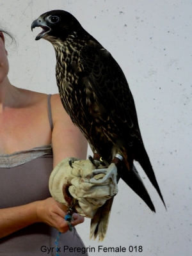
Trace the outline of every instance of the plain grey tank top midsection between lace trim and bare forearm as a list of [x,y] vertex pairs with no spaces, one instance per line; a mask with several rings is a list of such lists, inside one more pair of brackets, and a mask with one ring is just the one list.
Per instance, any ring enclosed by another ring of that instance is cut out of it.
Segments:
[[0,168],[0,208],[48,198],[52,156],[44,155],[13,168]]

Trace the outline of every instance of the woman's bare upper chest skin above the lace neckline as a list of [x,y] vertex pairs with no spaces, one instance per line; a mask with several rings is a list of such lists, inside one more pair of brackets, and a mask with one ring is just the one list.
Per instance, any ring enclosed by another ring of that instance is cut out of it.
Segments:
[[47,109],[5,109],[0,115],[0,154],[51,143]]

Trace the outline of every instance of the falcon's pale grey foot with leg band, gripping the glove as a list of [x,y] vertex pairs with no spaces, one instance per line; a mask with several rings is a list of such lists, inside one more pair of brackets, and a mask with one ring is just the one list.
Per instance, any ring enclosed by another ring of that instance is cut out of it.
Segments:
[[111,178],[113,180],[113,184],[115,184],[115,191],[113,191],[113,193],[116,194],[118,192],[117,180],[116,180],[116,176],[117,176],[116,166],[119,163],[119,161],[122,161],[122,159],[123,159],[122,156],[116,154],[116,156],[114,157],[112,163],[108,166],[108,168],[93,170],[93,174],[105,173],[106,175],[100,180],[96,180],[96,179],[92,178],[92,179],[90,179],[90,183],[92,183],[92,184],[102,184],[107,179]]

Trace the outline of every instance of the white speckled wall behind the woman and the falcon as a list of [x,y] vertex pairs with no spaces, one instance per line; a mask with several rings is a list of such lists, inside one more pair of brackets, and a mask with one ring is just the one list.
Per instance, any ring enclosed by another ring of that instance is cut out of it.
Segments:
[[[168,211],[137,164],[156,214],[119,183],[106,239],[100,245],[124,246],[126,253],[98,252],[89,241],[89,220],[77,230],[90,255],[191,255],[191,1],[4,0],[0,22],[17,35],[8,47],[10,81],[15,86],[56,93],[52,45],[35,41],[31,22],[54,9],[71,12],[111,52],[134,95],[141,134]],[[131,253],[129,246],[143,246]]]

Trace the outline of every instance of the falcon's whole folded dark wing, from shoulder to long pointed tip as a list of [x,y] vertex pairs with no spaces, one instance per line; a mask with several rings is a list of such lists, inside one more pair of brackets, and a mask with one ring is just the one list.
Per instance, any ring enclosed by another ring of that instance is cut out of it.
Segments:
[[79,65],[84,70],[84,76],[92,86],[99,103],[102,104],[113,122],[118,124],[116,127],[120,132],[122,131],[123,140],[126,140],[132,147],[131,153],[134,159],[139,161],[164,203],[143,145],[134,99],[122,69],[111,54],[97,44],[86,45],[81,49]]

